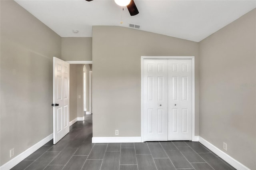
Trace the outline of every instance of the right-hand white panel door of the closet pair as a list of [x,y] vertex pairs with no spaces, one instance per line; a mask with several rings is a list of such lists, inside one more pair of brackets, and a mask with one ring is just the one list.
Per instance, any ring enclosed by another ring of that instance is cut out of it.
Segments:
[[191,59],[168,59],[168,140],[192,140]]

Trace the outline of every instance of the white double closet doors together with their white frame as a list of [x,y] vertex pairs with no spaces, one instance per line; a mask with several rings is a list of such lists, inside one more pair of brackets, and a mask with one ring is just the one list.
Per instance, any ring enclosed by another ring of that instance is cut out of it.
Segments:
[[142,56],[142,142],[193,140],[194,57]]

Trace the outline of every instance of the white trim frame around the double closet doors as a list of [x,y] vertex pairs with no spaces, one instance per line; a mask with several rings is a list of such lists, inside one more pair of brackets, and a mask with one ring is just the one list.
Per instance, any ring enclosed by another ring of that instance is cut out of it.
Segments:
[[144,142],[144,117],[143,117],[143,59],[192,59],[192,141],[198,141],[195,136],[195,57],[194,56],[141,56],[141,142]]

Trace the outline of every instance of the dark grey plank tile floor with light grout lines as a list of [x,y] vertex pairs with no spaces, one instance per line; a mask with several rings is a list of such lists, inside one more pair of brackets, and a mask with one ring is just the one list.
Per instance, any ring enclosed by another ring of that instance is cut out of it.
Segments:
[[92,143],[92,115],[12,170],[234,170],[199,142]]

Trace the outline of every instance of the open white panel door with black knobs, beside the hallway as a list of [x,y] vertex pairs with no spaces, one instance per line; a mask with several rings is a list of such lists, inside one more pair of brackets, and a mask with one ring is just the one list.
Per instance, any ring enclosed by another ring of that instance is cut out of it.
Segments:
[[53,144],[69,132],[69,63],[53,57]]

